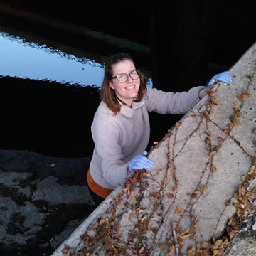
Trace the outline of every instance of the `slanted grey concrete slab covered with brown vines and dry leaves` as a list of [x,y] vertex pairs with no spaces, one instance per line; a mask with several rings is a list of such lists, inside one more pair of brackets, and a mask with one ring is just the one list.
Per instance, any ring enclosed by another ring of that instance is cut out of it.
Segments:
[[53,253],[224,255],[255,199],[256,43]]

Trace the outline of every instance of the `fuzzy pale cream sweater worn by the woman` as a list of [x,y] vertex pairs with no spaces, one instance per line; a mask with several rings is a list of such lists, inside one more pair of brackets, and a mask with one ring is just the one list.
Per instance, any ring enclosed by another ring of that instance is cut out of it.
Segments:
[[199,100],[198,92],[204,86],[188,92],[162,92],[149,88],[141,102],[132,108],[122,106],[114,115],[105,102],[100,105],[92,122],[95,149],[90,163],[93,180],[103,188],[114,189],[127,178],[129,161],[142,154],[149,143],[149,114],[185,114]]

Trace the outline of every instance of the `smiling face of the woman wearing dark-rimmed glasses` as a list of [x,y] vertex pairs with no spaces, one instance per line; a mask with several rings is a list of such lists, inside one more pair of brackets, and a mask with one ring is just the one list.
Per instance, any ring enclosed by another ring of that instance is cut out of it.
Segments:
[[128,106],[132,105],[132,100],[137,96],[139,91],[140,79],[132,80],[129,74],[134,71],[135,65],[132,60],[123,60],[117,64],[112,65],[113,77],[120,74],[127,74],[126,82],[119,82],[117,78],[110,80],[110,87],[115,91],[117,97],[125,102]]

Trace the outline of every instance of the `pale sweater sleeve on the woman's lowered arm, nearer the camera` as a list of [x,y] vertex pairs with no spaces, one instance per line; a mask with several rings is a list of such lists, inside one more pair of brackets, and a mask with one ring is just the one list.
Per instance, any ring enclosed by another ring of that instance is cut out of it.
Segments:
[[[98,121],[98,123],[97,123]],[[102,178],[116,187],[127,178],[127,167],[129,163],[124,163],[124,156],[120,142],[122,140],[122,130],[117,122],[113,122],[110,115],[103,119],[99,118],[92,126],[92,138],[95,142],[95,152],[98,161],[102,166]],[[100,178],[100,177],[99,177]]]

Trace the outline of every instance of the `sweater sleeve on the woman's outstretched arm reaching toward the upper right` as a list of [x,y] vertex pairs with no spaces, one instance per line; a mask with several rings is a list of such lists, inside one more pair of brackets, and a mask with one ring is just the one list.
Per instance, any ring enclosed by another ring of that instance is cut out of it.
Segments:
[[205,86],[193,87],[188,92],[163,92],[148,88],[146,108],[159,114],[186,114],[199,100],[198,92]]

